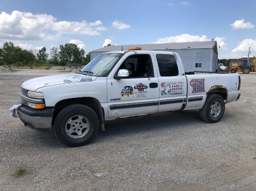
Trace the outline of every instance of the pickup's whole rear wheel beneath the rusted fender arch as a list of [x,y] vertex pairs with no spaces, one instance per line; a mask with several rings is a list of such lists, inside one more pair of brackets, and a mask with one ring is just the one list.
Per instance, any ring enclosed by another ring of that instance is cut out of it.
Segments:
[[220,121],[224,112],[225,102],[222,96],[217,94],[209,94],[202,109],[199,110],[201,119],[209,123]]

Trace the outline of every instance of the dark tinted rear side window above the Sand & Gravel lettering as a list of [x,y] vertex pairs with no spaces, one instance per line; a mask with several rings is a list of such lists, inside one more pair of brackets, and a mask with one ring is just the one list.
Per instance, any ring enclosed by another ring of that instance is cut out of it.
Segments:
[[178,76],[179,70],[175,57],[171,54],[157,54],[157,64],[160,76]]

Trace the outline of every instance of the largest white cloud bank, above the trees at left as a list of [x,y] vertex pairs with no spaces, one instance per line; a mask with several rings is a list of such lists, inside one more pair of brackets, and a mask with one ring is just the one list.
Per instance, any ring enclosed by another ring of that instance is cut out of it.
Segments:
[[13,11],[11,14],[0,13],[0,39],[17,40],[56,40],[61,34],[100,35],[99,31],[107,30],[97,20],[88,23],[60,21],[52,15],[32,14]]

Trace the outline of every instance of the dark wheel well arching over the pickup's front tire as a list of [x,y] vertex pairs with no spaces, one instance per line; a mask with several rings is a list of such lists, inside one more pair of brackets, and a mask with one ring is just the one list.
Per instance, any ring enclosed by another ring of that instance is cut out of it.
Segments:
[[61,100],[60,102],[56,103],[54,106],[54,116],[52,120],[52,125],[54,125],[55,117],[61,111],[61,109],[72,104],[83,104],[93,109],[100,121],[100,128],[104,130],[104,118],[105,118],[104,109],[101,107],[100,102],[93,97],[72,98],[72,99]]

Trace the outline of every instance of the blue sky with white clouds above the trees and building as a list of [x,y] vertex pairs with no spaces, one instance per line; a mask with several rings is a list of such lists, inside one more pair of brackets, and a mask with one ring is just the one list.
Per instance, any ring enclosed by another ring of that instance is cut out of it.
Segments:
[[0,48],[217,41],[219,58],[256,54],[256,0],[1,0]]

